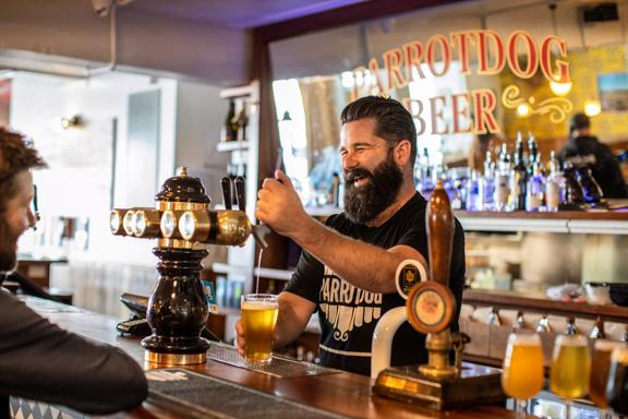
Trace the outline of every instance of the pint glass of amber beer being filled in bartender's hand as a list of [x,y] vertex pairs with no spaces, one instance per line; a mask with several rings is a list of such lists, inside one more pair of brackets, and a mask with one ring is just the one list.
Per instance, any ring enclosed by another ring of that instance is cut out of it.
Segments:
[[251,363],[270,362],[273,333],[277,324],[279,301],[270,294],[242,296],[242,325],[244,327],[244,360]]

